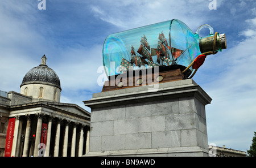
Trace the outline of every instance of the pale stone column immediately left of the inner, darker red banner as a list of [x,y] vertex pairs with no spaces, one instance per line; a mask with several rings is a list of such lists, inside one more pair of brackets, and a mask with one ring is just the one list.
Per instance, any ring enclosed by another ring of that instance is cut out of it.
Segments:
[[41,131],[42,131],[42,122],[43,122],[43,114],[36,114],[38,116],[38,124],[36,126],[36,135],[35,135],[35,150],[34,150],[34,156],[38,156],[38,151],[40,146],[40,140],[41,140]]

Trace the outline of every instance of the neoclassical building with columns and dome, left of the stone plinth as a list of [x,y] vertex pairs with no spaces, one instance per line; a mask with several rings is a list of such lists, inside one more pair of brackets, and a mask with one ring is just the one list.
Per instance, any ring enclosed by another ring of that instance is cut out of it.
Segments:
[[60,102],[60,80],[42,57],[20,93],[0,91],[0,156],[82,156],[89,150],[90,113]]

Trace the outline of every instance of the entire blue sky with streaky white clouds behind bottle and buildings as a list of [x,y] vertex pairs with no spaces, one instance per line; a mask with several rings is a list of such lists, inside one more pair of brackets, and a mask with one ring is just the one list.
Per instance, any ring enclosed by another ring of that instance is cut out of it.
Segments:
[[101,92],[97,69],[108,35],[171,19],[193,32],[209,24],[225,33],[228,48],[208,55],[193,77],[213,99],[206,106],[208,142],[250,149],[256,131],[255,0],[43,1],[0,0],[1,91],[20,92],[24,75],[45,54],[60,78],[60,101],[90,111],[82,101]]

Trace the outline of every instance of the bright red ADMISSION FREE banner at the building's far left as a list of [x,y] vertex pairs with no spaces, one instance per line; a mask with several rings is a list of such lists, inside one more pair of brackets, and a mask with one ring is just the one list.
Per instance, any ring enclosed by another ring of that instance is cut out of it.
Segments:
[[6,140],[5,140],[5,157],[11,156],[11,147],[13,146],[14,126],[15,126],[15,118],[10,118],[8,128],[7,128],[7,133],[6,133]]

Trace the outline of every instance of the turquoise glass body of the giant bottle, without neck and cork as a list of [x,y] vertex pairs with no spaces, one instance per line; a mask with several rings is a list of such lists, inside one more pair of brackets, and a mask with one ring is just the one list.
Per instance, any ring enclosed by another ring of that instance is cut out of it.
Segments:
[[201,54],[199,39],[177,19],[114,33],[103,46],[106,75],[175,64],[185,68]]

